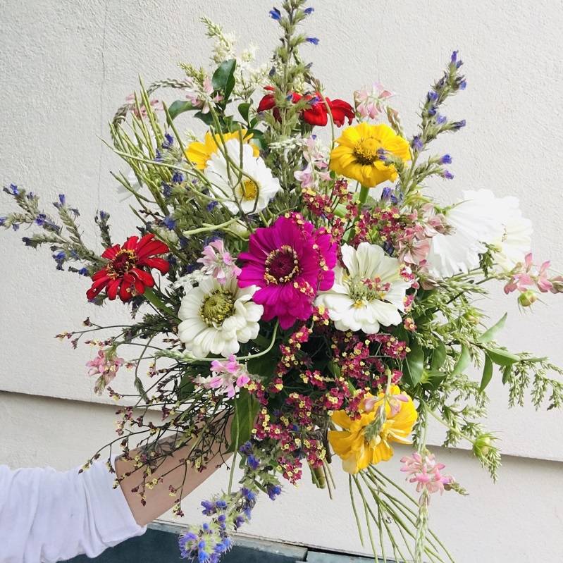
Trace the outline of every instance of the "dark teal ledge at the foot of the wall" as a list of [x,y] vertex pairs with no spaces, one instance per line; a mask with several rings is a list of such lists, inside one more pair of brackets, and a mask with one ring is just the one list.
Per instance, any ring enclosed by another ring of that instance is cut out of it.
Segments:
[[[80,555],[70,559],[68,563],[178,563],[180,561],[182,559],[178,550],[178,533],[149,529],[143,536],[116,545],[95,559]],[[370,561],[373,562],[373,559],[249,538],[237,538],[235,547],[221,559],[221,563],[367,563]],[[392,563],[390,559],[388,562]]]

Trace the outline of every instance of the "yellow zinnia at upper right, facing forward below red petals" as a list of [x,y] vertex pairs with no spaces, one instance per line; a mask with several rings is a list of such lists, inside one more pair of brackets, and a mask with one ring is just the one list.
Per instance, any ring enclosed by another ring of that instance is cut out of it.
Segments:
[[339,146],[330,152],[330,169],[366,187],[397,178],[395,166],[381,159],[381,149],[402,160],[410,159],[409,143],[384,123],[352,125],[336,142]]

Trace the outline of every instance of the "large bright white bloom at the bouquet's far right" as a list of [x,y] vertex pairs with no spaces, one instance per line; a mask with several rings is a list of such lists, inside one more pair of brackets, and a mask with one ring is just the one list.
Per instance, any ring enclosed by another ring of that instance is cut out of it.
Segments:
[[510,269],[531,245],[531,223],[521,216],[515,197],[497,198],[490,190],[466,191],[464,199],[445,212],[450,232],[435,235],[426,259],[428,273],[451,278],[478,268],[487,245],[493,259]]

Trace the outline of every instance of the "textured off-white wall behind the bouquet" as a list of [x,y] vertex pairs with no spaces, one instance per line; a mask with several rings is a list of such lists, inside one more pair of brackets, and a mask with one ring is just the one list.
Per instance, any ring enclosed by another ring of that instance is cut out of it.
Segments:
[[[400,93],[396,105],[409,131],[450,51],[461,51],[469,86],[448,114],[466,118],[468,126],[435,147],[452,154],[456,175],[435,190],[454,198],[462,189],[489,187],[520,197],[535,223],[534,252],[563,269],[562,4],[318,0],[314,6],[307,31],[321,44],[305,56],[328,94],[350,99],[355,87],[379,80]],[[201,15],[237,32],[241,47],[252,39],[265,60],[276,43],[270,7],[260,0],[0,1],[0,183],[40,192],[46,202],[65,192],[80,206],[85,235],[98,248],[89,221],[97,208],[113,214],[116,240],[125,237],[132,221],[108,173],[124,168],[99,140],[107,138],[113,111],[135,89],[138,74],[148,83],[180,76],[177,61],[205,63]],[[102,322],[126,313],[119,305],[100,311],[85,303],[87,280],[55,271],[47,252],[23,248],[22,234],[0,236],[0,390],[16,392],[0,394],[0,463],[62,469],[111,436],[111,409],[87,404],[100,402],[85,377],[90,350],[72,351],[52,337],[88,314]],[[493,321],[509,311],[503,343],[563,364],[561,299],[547,296],[522,316],[496,288],[487,305]],[[120,383],[126,386],[124,378]],[[436,499],[436,526],[461,562],[525,562],[534,555],[555,561],[563,548],[563,415],[509,411],[502,385],[491,392],[490,427],[512,457],[492,485],[466,452],[444,454],[471,496]],[[388,471],[397,468],[395,458]],[[348,510],[340,489],[328,505],[304,484],[279,503],[284,516],[266,504],[249,531],[358,550],[352,519],[340,521]],[[199,497],[194,493],[193,505]]]

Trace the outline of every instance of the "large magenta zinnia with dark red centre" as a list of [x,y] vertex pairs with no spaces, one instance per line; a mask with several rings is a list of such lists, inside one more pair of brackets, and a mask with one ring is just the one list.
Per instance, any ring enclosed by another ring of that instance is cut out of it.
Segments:
[[319,290],[333,286],[336,245],[326,229],[315,229],[300,214],[277,219],[251,235],[238,283],[257,285],[254,302],[264,305],[264,321],[278,317],[281,328],[306,321]]

